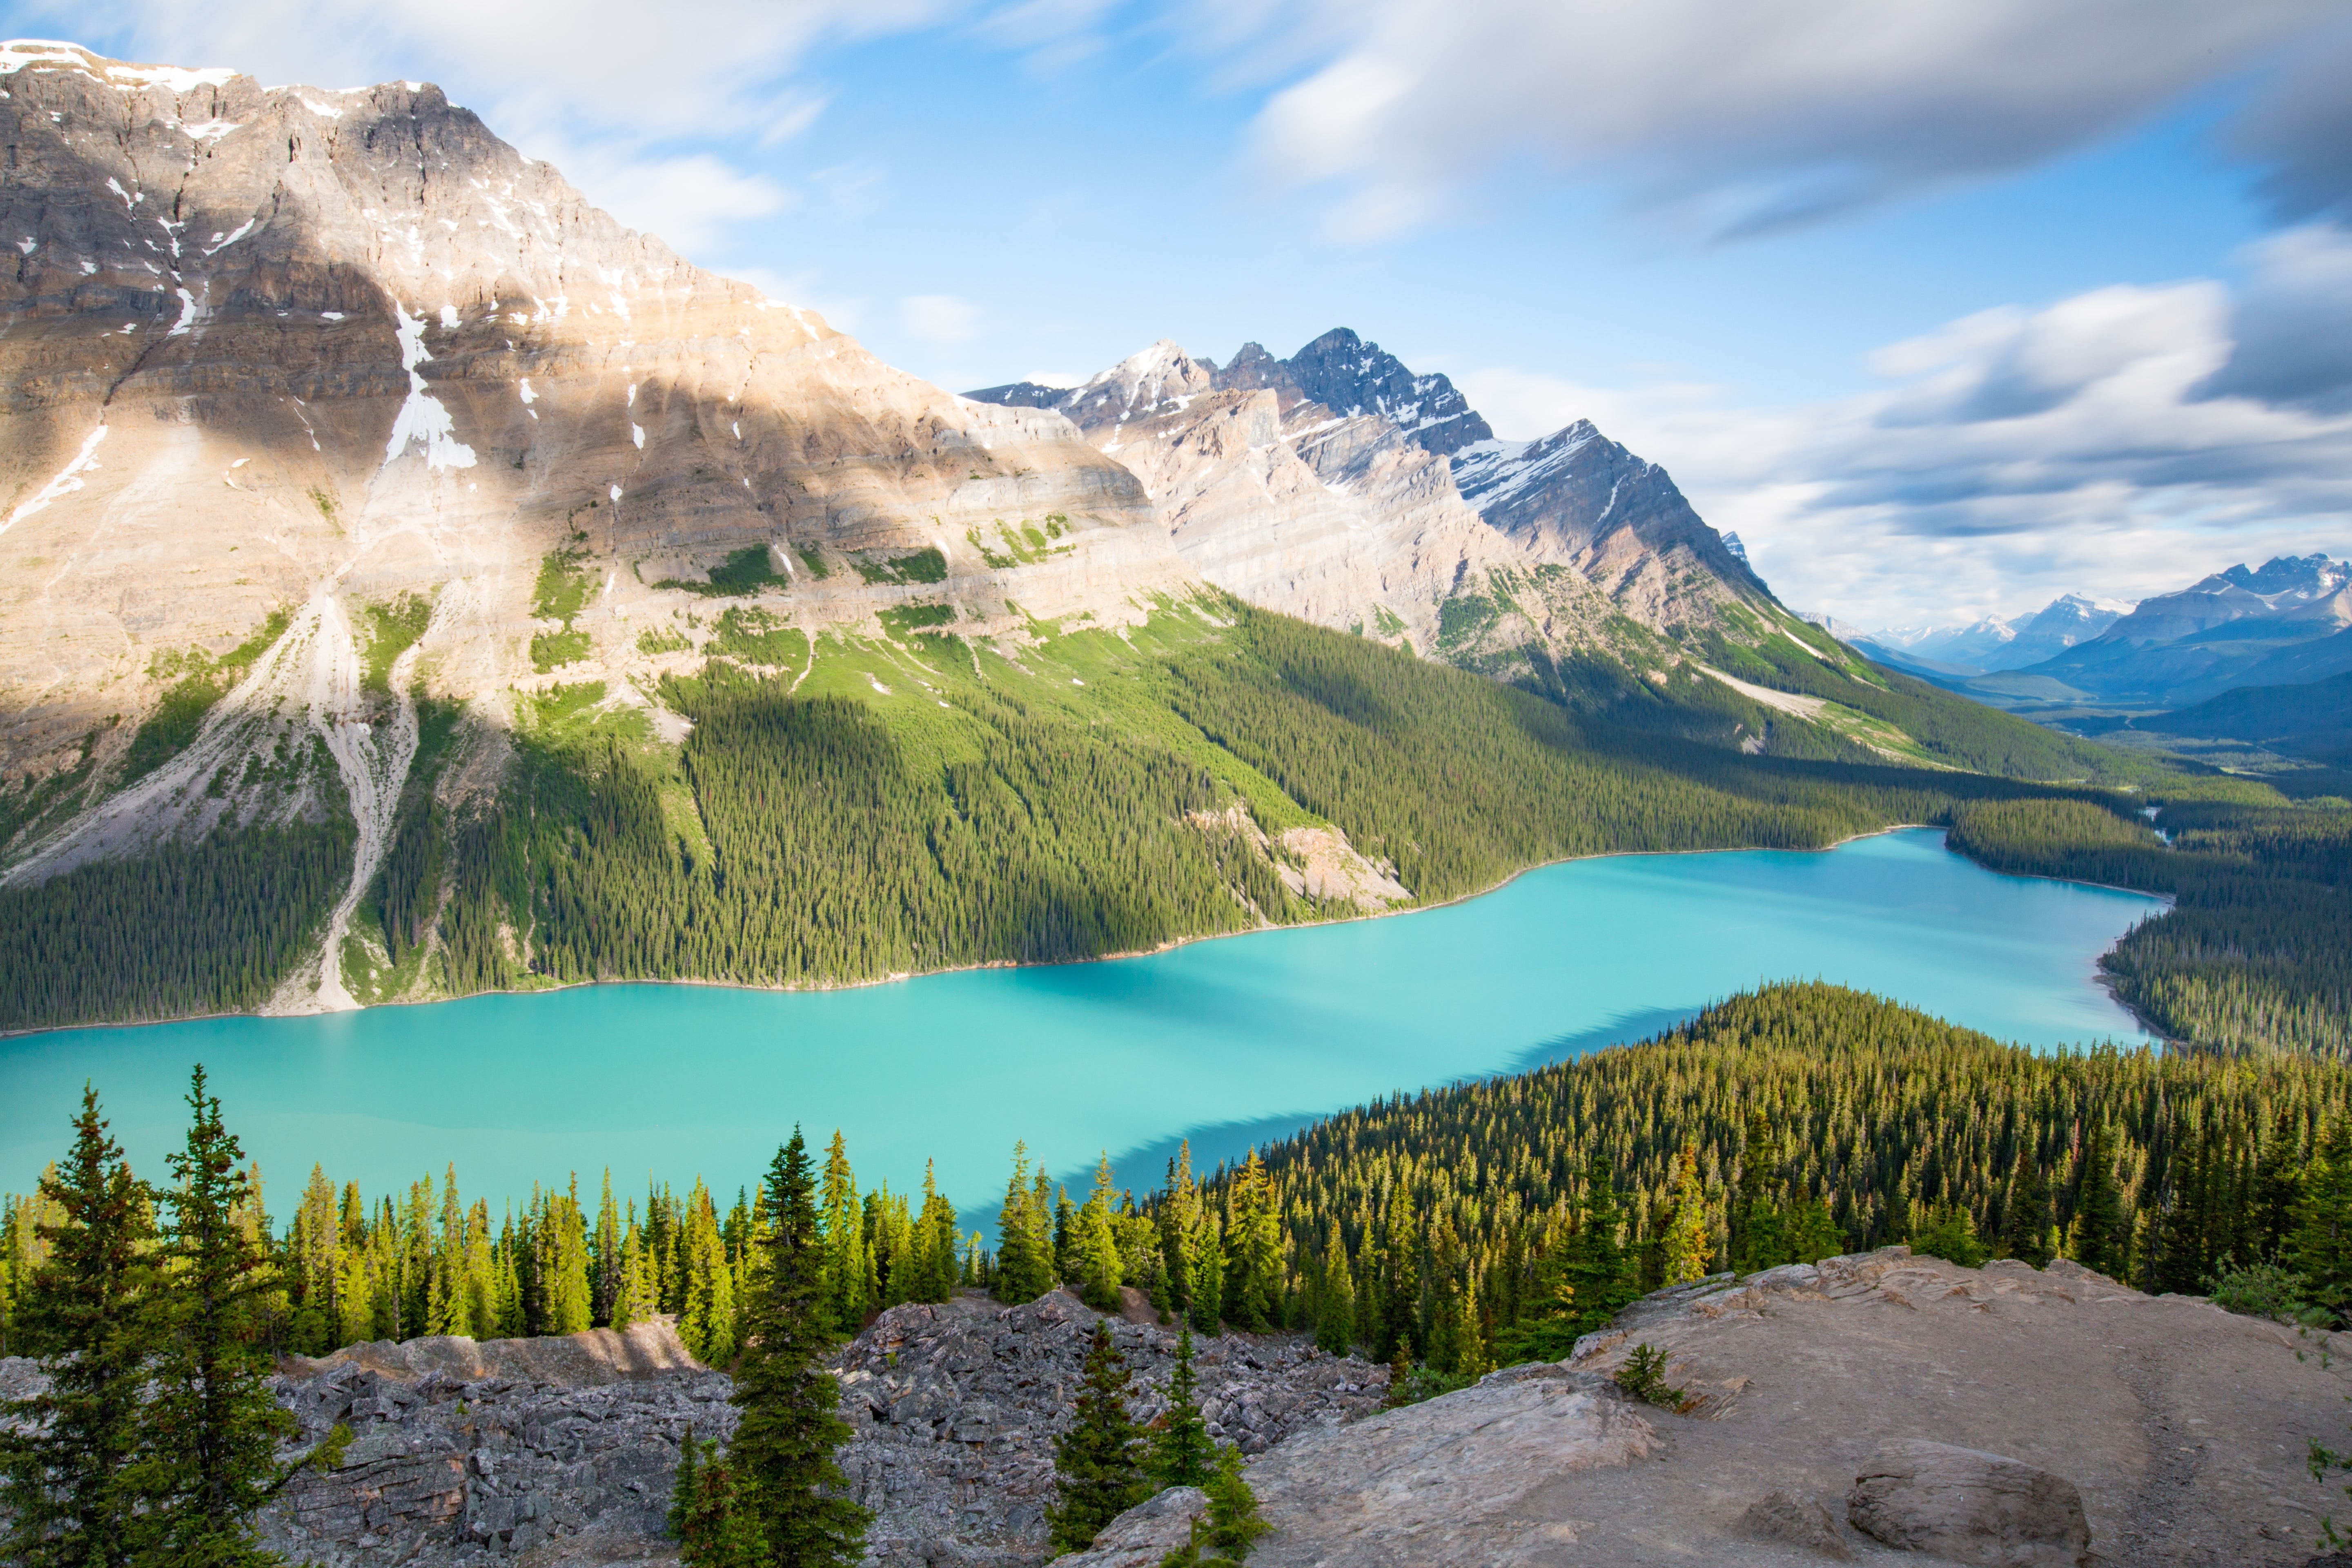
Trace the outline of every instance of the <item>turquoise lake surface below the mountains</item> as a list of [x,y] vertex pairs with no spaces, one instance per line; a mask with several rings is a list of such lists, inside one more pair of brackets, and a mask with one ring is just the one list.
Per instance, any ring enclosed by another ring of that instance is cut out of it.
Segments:
[[[1418,914],[1171,952],[837,992],[595,985],[325,1018],[221,1018],[0,1039],[0,1187],[68,1140],[82,1079],[162,1175],[191,1063],[261,1159],[282,1222],[313,1161],[374,1199],[456,1161],[496,1211],[612,1166],[734,1192],[802,1121],[840,1126],[861,1185],[967,1211],[1014,1138],[1058,1173],[1110,1150],[1157,1185],[1399,1088],[1642,1039],[1766,980],[1865,987],[2037,1046],[2145,1039],[2096,959],[2161,903],[1987,872],[1900,830],[1828,853],[1613,856]],[[969,1215],[981,1218],[981,1215]]]

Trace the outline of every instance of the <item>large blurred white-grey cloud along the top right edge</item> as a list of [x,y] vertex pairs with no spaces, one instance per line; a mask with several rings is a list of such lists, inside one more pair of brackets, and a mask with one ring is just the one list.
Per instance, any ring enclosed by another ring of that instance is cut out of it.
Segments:
[[[1230,38],[1235,9],[1211,12]],[[1263,16],[1244,54],[1319,63],[1265,103],[1256,153],[1282,183],[1327,186],[1345,235],[1414,228],[1529,167],[1736,235],[2119,132],[2340,5],[1294,0]],[[2331,82],[2314,101],[2343,101]]]

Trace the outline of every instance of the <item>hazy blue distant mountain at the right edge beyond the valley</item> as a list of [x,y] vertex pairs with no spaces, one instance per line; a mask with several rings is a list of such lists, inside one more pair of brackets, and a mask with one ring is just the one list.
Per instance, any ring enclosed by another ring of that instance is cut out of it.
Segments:
[[2352,562],[2281,555],[2140,599],[2039,663],[2013,665],[2105,703],[2178,705],[2230,686],[2352,670]]

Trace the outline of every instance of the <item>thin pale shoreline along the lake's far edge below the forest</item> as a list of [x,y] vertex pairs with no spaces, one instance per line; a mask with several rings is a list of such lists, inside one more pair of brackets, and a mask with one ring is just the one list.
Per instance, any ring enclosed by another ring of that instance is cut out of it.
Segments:
[[[1578,863],[1585,863],[1585,860],[1668,858],[1668,856],[1757,856],[1757,853],[1766,853],[1766,856],[1828,856],[1828,853],[1835,853],[1835,851],[1844,849],[1846,844],[1860,844],[1863,839],[1882,839],[1882,837],[1886,837],[1891,832],[1912,832],[1912,830],[1936,830],[1936,832],[1943,832],[1943,835],[1947,835],[1945,837],[1945,853],[1959,853],[1959,851],[1950,849],[1950,827],[1940,827],[1938,823],[1886,823],[1884,827],[1870,827],[1865,832],[1849,832],[1846,837],[1842,837],[1842,839],[1837,839],[1832,844],[1823,844],[1818,849],[1773,849],[1773,846],[1762,846],[1762,844],[1745,844],[1745,846],[1740,846],[1740,844],[1726,844],[1726,846],[1719,846],[1719,849],[1606,849],[1606,851],[1592,853],[1592,856],[1559,856],[1557,860],[1538,860],[1534,865],[1522,865],[1519,870],[1510,872],[1508,877],[1503,877],[1503,879],[1498,879],[1498,882],[1494,882],[1489,886],[1475,889],[1470,893],[1456,893],[1454,898],[1442,898],[1437,903],[1414,903],[1414,905],[1406,905],[1406,907],[1364,910],[1359,914],[1348,914],[1348,917],[1341,917],[1341,919],[1312,919],[1312,922],[1301,922],[1296,926],[1256,926],[1251,931],[1204,931],[1200,936],[1178,936],[1174,940],[1160,943],[1157,947],[1131,947],[1127,952],[1096,952],[1096,954],[1084,957],[1084,959],[1040,959],[1040,961],[988,959],[983,964],[953,964],[953,966],[946,966],[946,969],[915,969],[915,971],[894,973],[894,976],[875,976],[870,980],[818,980],[818,983],[800,983],[800,985],[760,985],[755,980],[713,980],[713,978],[706,978],[706,976],[642,976],[642,978],[614,978],[614,980],[560,980],[560,983],[550,983],[550,985],[466,992],[463,997],[419,997],[419,999],[372,1001],[372,1004],[355,1006],[355,1009],[320,1009],[315,1013],[179,1013],[179,1016],[172,1016],[172,1018],[56,1023],[56,1025],[45,1025],[45,1027],[38,1027],[38,1030],[0,1030],[0,1041],[5,1041],[5,1039],[26,1039],[26,1037],[35,1037],[35,1034],[68,1034],[68,1032],[78,1032],[78,1030],[146,1030],[146,1027],[155,1027],[155,1025],[214,1023],[214,1020],[228,1020],[228,1018],[327,1018],[327,1016],[343,1013],[343,1011],[367,1013],[367,1011],[388,1009],[388,1006],[442,1006],[442,1004],[449,1004],[449,1001],[475,1001],[480,997],[548,997],[548,994],[555,994],[555,992],[588,990],[588,987],[597,987],[597,985],[706,985],[706,987],[717,987],[717,990],[767,992],[767,994],[818,994],[818,992],[868,990],[868,987],[875,987],[875,985],[906,985],[908,980],[929,980],[929,978],[936,978],[936,976],[981,973],[981,971],[988,971],[988,969],[1063,969],[1063,966],[1075,966],[1075,964],[1120,964],[1120,961],[1127,961],[1127,959],[1160,957],[1164,952],[1176,952],[1178,947],[1192,947],[1197,943],[1223,943],[1223,940],[1244,938],[1244,936],[1270,936],[1270,933],[1277,933],[1277,931],[1315,931],[1319,926],[1352,926],[1357,922],[1399,919],[1399,917],[1409,917],[1409,914],[1430,914],[1435,910],[1451,910],[1451,907],[1470,903],[1475,898],[1486,898],[1491,893],[1501,893],[1503,889],[1508,889],[1510,884],[1519,882],[1522,877],[1531,877],[1536,872],[1545,872],[1545,870],[1552,870],[1557,865],[1578,865]],[[1966,860],[1966,856],[1962,856],[1962,858]],[[2173,905],[2171,898],[2164,898],[2161,893],[2147,893],[2143,889],[2124,889],[2124,886],[2112,886],[2112,884],[2103,884],[2103,882],[2077,882],[2072,877],[2046,877],[2046,875],[2037,875],[2037,872],[2004,872],[2004,870],[1994,870],[1990,865],[1983,865],[1978,860],[1969,860],[1969,865],[1976,865],[1978,870],[1992,872],[1994,877],[2020,877],[2020,879],[2027,879],[2027,882],[2063,882],[2067,886],[2089,886],[2089,889],[2103,889],[2103,891],[2110,891],[2110,893],[2131,893],[2133,898],[2154,898],[2154,900],[2164,903],[2166,910],[2171,910],[2171,905]],[[2107,947],[2107,952],[2114,952],[2114,947]],[[2100,957],[2105,957],[2105,952]],[[2114,997],[2114,990],[2107,983],[2105,971],[2098,969],[2096,959],[2093,959],[2093,978],[2100,983],[2103,990],[2107,990],[2110,999],[2114,999],[2114,1004],[2119,1009],[2124,1009],[2136,1025],[2140,1025],[2143,1032],[2147,1032],[2147,1034],[2152,1034],[2157,1039],[2166,1039],[2169,1041],[2169,1037],[2161,1030],[2150,1027],[2147,1020],[2140,1018],[2140,1013],[2136,1009],[2131,1009],[2126,1001],[2122,1001],[2119,997]]]

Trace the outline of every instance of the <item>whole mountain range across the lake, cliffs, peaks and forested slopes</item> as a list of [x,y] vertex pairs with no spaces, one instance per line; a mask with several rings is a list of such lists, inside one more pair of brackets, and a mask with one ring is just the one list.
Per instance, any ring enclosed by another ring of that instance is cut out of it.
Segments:
[[967,400],[430,85],[0,82],[0,1030],[1138,952],[1976,788],[1778,759],[2114,762],[1352,334]]

